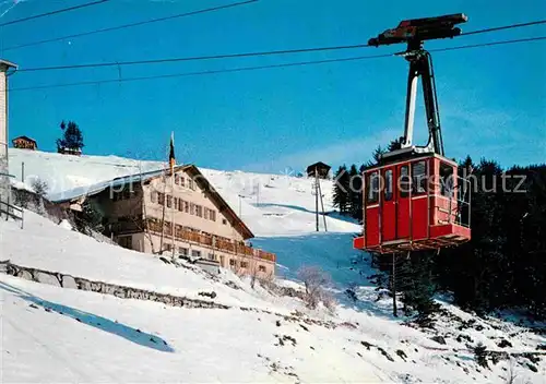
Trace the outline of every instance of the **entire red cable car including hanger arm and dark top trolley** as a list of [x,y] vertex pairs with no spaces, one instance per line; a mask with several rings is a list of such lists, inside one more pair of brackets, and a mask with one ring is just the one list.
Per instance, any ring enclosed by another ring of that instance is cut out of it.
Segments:
[[[430,53],[426,39],[461,34],[455,24],[464,14],[403,21],[369,45],[407,43],[402,56],[410,62],[404,136],[400,148],[381,156],[364,171],[364,231],[354,248],[375,253],[439,250],[471,239],[468,181],[443,155],[443,142]],[[417,79],[422,77],[429,132],[426,146],[415,146],[413,127]]]

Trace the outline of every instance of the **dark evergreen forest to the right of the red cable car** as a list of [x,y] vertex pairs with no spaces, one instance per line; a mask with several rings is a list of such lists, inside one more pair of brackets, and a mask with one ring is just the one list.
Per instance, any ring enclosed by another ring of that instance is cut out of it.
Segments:
[[442,250],[438,281],[478,313],[520,308],[546,319],[546,166],[502,173],[495,161],[466,158],[460,170],[471,167],[472,239]]

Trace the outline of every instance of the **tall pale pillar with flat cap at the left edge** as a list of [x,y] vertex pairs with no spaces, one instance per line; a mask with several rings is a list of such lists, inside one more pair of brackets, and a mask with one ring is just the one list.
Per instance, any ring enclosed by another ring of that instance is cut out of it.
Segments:
[[7,203],[11,203],[8,164],[8,71],[13,68],[16,69],[17,65],[0,59],[0,201]]

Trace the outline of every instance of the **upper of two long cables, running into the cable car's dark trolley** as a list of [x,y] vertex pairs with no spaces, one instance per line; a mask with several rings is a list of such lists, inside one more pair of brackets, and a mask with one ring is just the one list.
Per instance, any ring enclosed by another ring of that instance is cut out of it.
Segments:
[[[257,1],[257,0],[252,0],[252,1]],[[250,1],[250,2],[252,2],[252,1]],[[245,3],[247,3],[247,2],[245,2]],[[236,3],[236,4],[241,4],[241,3]],[[233,7],[233,4],[232,5],[224,5],[224,7]],[[198,11],[198,12],[202,12],[202,11]],[[492,28],[487,28],[487,29],[473,31],[473,32],[466,33],[464,35],[479,34],[479,33],[486,33],[486,32],[492,32],[492,31],[499,31],[499,29],[517,28],[517,27],[537,25],[537,24],[544,24],[544,23],[546,23],[546,20],[536,21],[536,22],[529,22],[529,23],[523,23],[523,24],[512,24],[512,25],[492,27]],[[95,62],[95,63],[72,64],[72,65],[55,65],[55,67],[37,67],[37,68],[20,69],[17,72],[37,72],[37,71],[52,71],[52,70],[71,70],[71,69],[82,69],[82,68],[121,67],[121,65],[166,63],[166,62],[181,62],[181,61],[234,59],[234,58],[248,58],[248,57],[257,57],[257,56],[274,56],[274,55],[346,50],[346,49],[369,48],[369,47],[375,47],[375,46],[370,46],[368,44],[354,44],[354,45],[345,45],[345,46],[283,49],[283,50],[269,50],[269,51],[244,52],[244,53],[224,53],[224,55],[195,56],[195,57],[182,57],[182,58],[150,59],[150,60],[135,60],[135,61],[123,61],[123,62]],[[447,48],[447,50],[449,50],[449,49]]]

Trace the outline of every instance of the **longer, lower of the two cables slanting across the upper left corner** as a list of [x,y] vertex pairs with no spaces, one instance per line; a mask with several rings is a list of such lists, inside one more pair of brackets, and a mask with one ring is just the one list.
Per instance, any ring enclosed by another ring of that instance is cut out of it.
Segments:
[[230,3],[230,4],[225,4],[225,5],[206,8],[206,9],[202,9],[202,10],[198,10],[198,11],[178,13],[178,14],[174,14],[174,15],[165,16],[165,17],[145,20],[145,21],[141,21],[141,22],[135,22],[135,23],[130,23],[130,24],[123,24],[123,25],[118,25],[118,26],[111,26],[111,27],[102,28],[102,29],[94,29],[94,31],[82,32],[82,33],[73,34],[73,35],[67,35],[67,36],[61,36],[61,37],[54,37],[54,38],[38,40],[38,41],[32,41],[32,43],[25,43],[25,44],[21,44],[21,45],[17,45],[17,46],[11,46],[11,47],[3,48],[3,50],[8,51],[8,50],[14,50],[14,49],[20,49],[20,48],[25,48],[25,47],[34,47],[34,46],[38,46],[38,45],[41,45],[41,44],[61,41],[61,40],[64,40],[64,39],[68,39],[68,38],[76,38],[76,37],[83,37],[83,36],[90,36],[90,35],[100,34],[100,33],[105,33],[105,32],[112,32],[112,31],[132,28],[132,27],[140,26],[140,25],[146,25],[146,24],[152,24],[152,23],[165,22],[167,20],[180,19],[180,17],[191,16],[191,15],[200,14],[200,13],[206,13],[206,12],[214,12],[214,11],[225,10],[225,9],[228,9],[228,8],[234,8],[234,7],[238,7],[238,5],[245,5],[245,4],[249,4],[249,3],[252,3],[252,2],[257,2],[257,1],[259,1],[259,0],[248,0],[248,1],[235,2],[235,3]]

